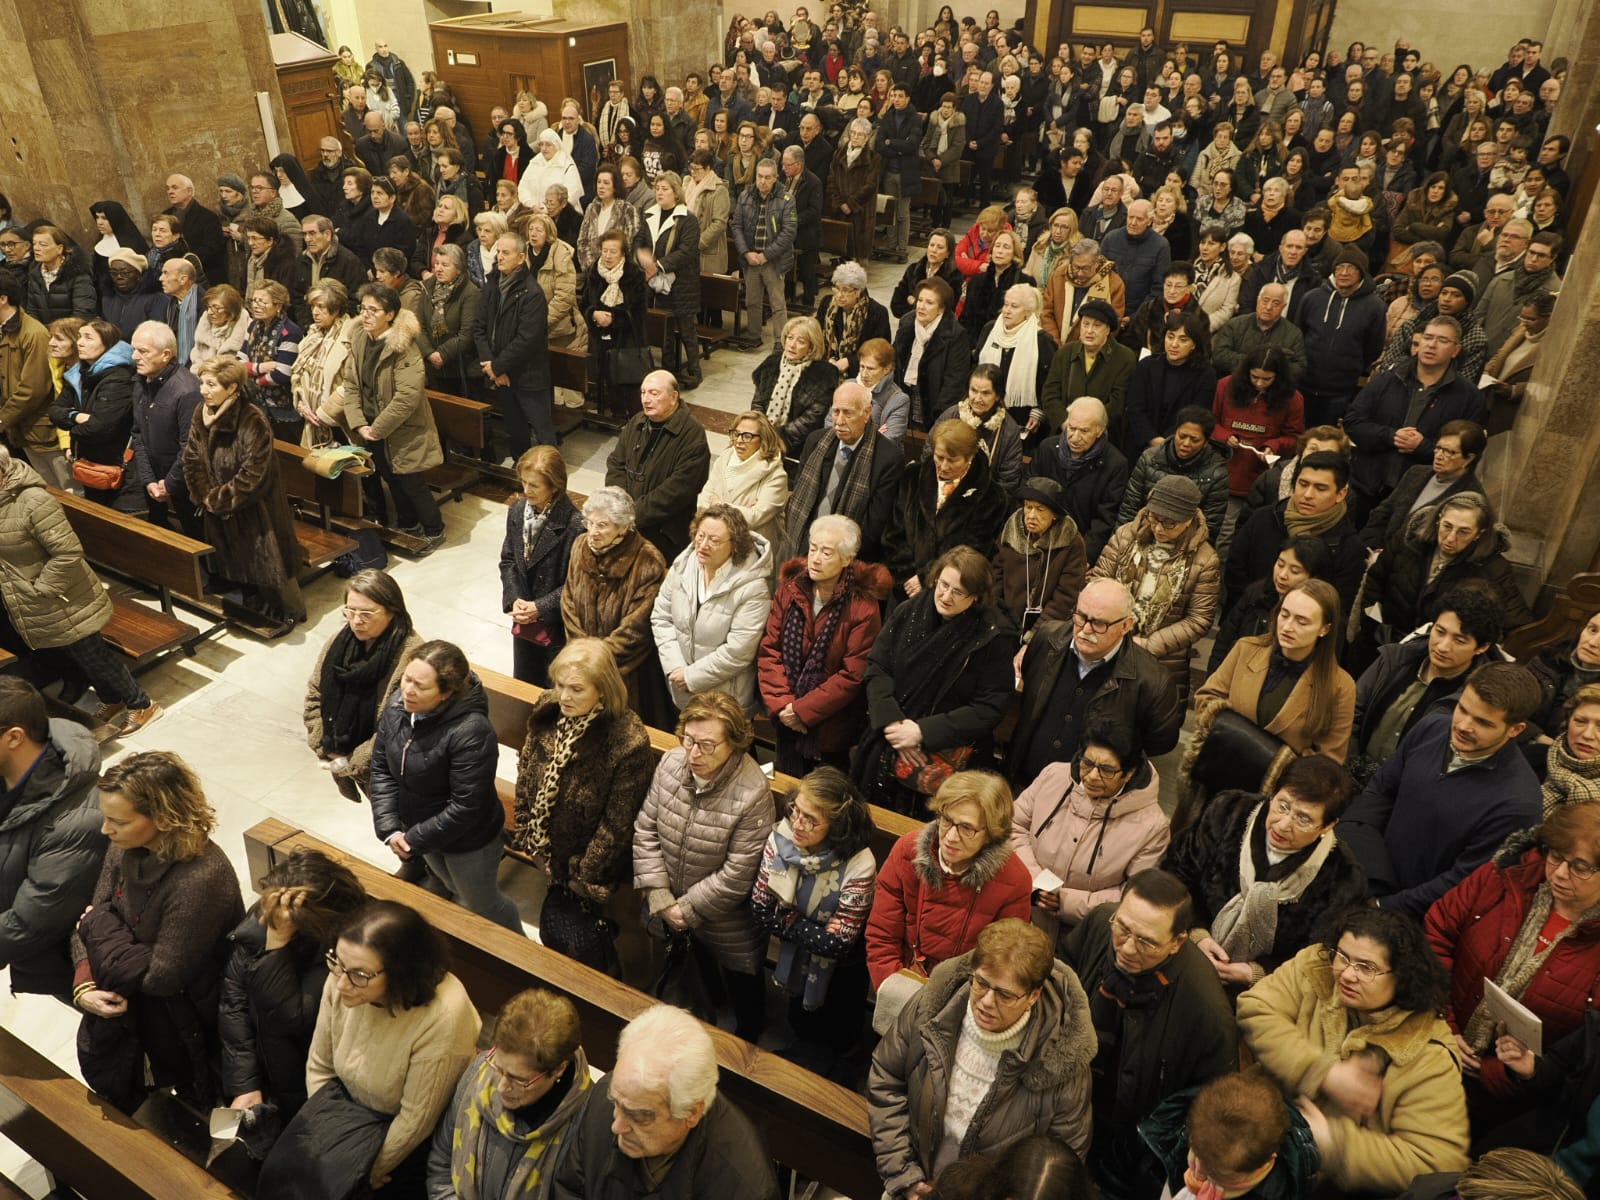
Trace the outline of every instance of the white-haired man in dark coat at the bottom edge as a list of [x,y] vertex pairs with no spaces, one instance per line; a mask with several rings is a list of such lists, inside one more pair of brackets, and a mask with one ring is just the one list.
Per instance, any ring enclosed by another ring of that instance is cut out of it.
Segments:
[[717,1048],[682,1008],[651,1005],[624,1026],[616,1067],[562,1139],[550,1200],[595,1195],[778,1200],[771,1155],[717,1094]]

